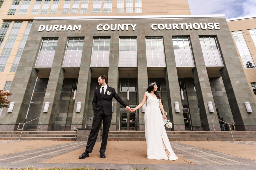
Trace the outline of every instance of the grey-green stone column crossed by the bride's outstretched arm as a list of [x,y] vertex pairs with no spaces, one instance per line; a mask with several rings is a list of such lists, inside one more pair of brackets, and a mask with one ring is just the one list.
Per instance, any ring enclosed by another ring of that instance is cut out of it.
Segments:
[[[146,55],[146,37],[144,35],[137,36],[137,63],[138,63],[138,104],[141,103],[145,91],[147,89],[147,55]],[[145,130],[144,113],[142,108],[137,110],[139,117],[139,129]]]

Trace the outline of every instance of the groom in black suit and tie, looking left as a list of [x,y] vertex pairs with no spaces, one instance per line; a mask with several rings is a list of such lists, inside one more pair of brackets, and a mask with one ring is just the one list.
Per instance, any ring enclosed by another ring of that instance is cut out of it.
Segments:
[[79,156],[79,159],[84,159],[89,157],[89,153],[92,153],[93,146],[96,142],[99,128],[103,120],[103,132],[102,141],[100,147],[100,158],[106,158],[105,150],[107,146],[109,127],[112,118],[112,99],[113,97],[121,103],[127,110],[131,111],[131,108],[121,99],[121,97],[116,94],[115,89],[106,85],[107,77],[101,75],[98,78],[98,83],[100,88],[94,91],[94,96],[92,100],[92,110],[94,112],[94,117],[92,121],[92,129],[88,138],[86,150]]

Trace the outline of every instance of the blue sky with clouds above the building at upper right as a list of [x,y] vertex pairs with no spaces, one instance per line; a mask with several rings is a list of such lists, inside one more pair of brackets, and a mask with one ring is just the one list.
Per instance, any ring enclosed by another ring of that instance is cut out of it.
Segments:
[[188,0],[191,15],[225,14],[226,18],[256,15],[256,0]]

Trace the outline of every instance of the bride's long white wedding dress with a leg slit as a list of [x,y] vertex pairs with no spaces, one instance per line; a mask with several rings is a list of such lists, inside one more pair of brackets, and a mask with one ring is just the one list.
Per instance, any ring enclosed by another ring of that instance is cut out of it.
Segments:
[[165,152],[166,146],[168,151],[172,154],[172,157],[178,159],[172,150],[170,141],[166,134],[163,117],[159,108],[159,99],[154,98],[147,91],[146,94],[147,107],[145,110],[145,136],[147,143],[147,158],[168,160],[169,158]]

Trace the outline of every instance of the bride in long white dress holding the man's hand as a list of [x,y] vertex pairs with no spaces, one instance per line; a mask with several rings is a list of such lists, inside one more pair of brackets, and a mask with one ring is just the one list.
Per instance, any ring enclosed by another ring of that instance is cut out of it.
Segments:
[[[147,100],[145,111],[145,136],[147,143],[147,158],[148,159],[165,159],[176,160],[178,157],[172,150],[170,141],[167,137],[164,127],[163,117],[167,120],[164,113],[161,97],[157,93],[156,83],[148,85],[142,102],[132,111],[142,107]],[[160,111],[160,109],[161,111]]]

